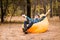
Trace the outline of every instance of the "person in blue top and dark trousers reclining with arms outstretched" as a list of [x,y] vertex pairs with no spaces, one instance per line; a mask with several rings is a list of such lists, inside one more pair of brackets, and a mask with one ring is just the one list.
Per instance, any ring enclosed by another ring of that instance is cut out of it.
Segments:
[[42,21],[47,16],[49,11],[50,11],[50,9],[48,10],[48,12],[42,18],[40,18],[39,14],[35,14],[33,19],[27,17],[25,14],[22,14],[22,17],[27,19],[27,21],[24,21],[24,29],[23,29],[24,32],[26,32],[26,30],[29,29],[34,23]]

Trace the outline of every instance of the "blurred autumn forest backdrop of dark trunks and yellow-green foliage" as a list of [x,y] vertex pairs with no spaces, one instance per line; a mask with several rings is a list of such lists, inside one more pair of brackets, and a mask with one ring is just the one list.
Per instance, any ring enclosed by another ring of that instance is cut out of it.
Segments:
[[32,17],[35,13],[45,14],[48,9],[49,17],[60,17],[60,0],[0,0],[0,22],[20,22],[22,13]]

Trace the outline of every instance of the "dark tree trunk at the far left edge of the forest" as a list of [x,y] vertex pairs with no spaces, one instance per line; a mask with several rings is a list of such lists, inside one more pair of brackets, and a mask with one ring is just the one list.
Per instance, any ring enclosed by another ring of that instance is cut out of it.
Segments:
[[7,10],[8,0],[6,0],[6,2],[4,3],[3,3],[3,0],[0,0],[0,2],[1,2],[1,22],[3,23],[4,15],[6,14],[6,10]]

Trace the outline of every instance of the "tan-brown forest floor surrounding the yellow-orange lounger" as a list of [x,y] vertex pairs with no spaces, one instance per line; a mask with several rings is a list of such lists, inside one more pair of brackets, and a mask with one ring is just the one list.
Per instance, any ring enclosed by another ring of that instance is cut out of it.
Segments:
[[48,31],[40,34],[24,34],[22,24],[0,24],[0,40],[60,40],[60,21],[53,17],[49,19]]

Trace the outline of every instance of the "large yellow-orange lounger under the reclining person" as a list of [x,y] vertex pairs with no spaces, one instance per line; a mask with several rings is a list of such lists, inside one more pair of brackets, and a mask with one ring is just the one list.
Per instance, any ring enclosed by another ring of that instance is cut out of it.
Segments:
[[[43,14],[40,17],[42,17],[42,16],[43,16]],[[32,27],[30,27],[27,30],[27,32],[28,33],[42,33],[42,32],[45,32],[48,30],[48,25],[49,25],[49,22],[48,22],[48,19],[46,17],[41,22],[33,24]]]

